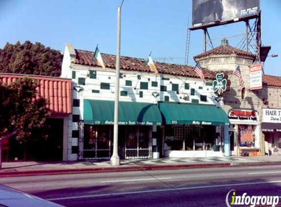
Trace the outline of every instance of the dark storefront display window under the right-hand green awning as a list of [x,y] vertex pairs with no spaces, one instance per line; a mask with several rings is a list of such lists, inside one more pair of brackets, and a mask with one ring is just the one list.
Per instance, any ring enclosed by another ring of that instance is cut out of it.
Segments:
[[167,125],[164,148],[181,151],[213,150],[215,136],[214,126]]

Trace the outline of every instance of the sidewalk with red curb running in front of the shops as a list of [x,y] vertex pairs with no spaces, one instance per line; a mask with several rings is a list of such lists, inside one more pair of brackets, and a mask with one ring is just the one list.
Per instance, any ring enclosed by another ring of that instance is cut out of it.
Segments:
[[202,158],[159,158],[159,159],[126,159],[121,165],[113,167],[110,161],[60,161],[36,162],[18,161],[3,162],[0,177],[24,175],[54,175],[93,172],[118,172],[135,170],[168,170],[202,167],[254,166],[281,164],[281,155],[256,157],[202,157]]

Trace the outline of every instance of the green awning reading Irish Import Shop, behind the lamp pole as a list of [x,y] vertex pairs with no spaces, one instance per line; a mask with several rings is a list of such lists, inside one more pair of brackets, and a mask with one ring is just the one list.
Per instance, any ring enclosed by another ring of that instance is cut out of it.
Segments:
[[[114,124],[114,102],[84,100],[84,123]],[[153,103],[119,102],[120,125],[161,125],[161,113]]]

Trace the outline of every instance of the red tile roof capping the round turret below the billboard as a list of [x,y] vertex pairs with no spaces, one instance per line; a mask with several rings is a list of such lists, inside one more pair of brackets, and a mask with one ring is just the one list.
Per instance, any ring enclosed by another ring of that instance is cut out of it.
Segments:
[[203,52],[201,54],[198,54],[196,56],[194,56],[194,60],[198,60],[202,57],[207,57],[210,55],[228,55],[228,54],[238,54],[238,55],[243,55],[243,56],[248,56],[251,57],[253,59],[255,59],[255,54],[251,53],[251,52],[246,52],[243,50],[239,50],[237,48],[231,47],[229,45],[221,45],[219,47],[216,47],[212,50],[209,50],[207,52]]

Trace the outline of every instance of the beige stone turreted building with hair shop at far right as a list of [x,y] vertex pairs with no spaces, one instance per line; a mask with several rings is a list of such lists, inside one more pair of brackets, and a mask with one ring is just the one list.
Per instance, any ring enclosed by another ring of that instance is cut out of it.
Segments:
[[[210,71],[229,74],[230,90],[225,92],[222,104],[230,119],[230,139],[225,140],[226,151],[230,148],[232,155],[280,153],[281,78],[263,75],[262,88],[250,90],[250,66],[255,62],[255,55],[233,48],[227,41],[194,59]],[[232,75],[237,66],[240,67],[245,90],[241,89],[238,77]]]

